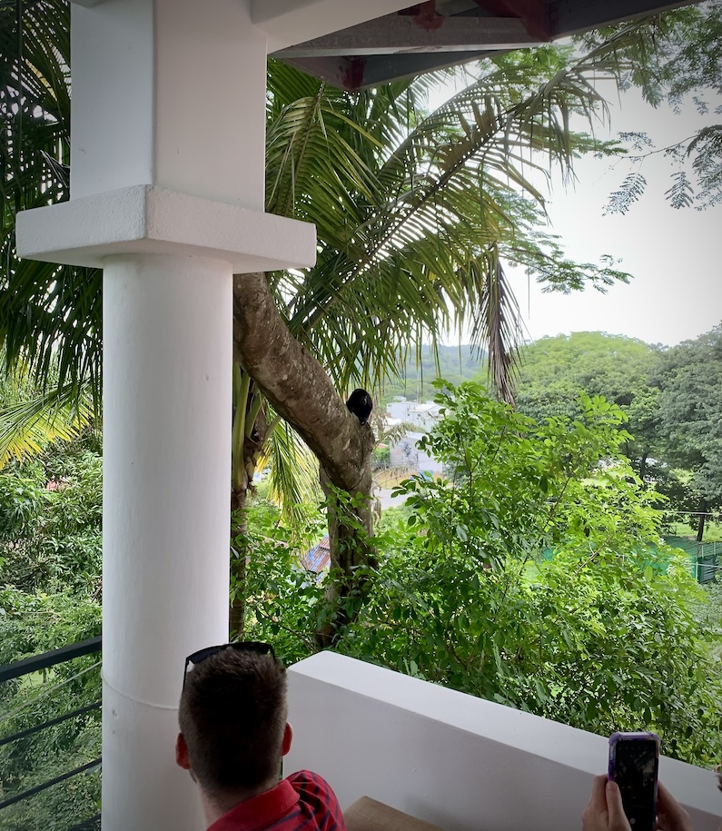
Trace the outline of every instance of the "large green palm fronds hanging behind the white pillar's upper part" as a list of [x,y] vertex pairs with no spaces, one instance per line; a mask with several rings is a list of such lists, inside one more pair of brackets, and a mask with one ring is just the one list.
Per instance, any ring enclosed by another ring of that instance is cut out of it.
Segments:
[[[15,3],[0,0],[0,112],[10,137],[0,341],[11,365],[26,356],[42,378],[57,358],[61,386],[90,381],[99,391],[99,272],[15,259],[15,211],[67,198],[68,6],[26,0],[19,27]],[[580,59],[551,46],[499,56],[432,113],[428,94],[442,74],[347,93],[269,62],[267,208],[315,223],[320,240],[314,269],[273,274],[272,286],[293,334],[340,388],[378,382],[454,319],[508,322],[488,335],[494,354],[513,356],[515,309],[495,289],[490,251],[556,287],[618,279],[585,264],[555,270],[559,246],[538,232],[539,176],[573,176],[574,153],[593,141],[570,131],[571,117],[606,117],[592,76],[624,83],[630,51],[650,54],[658,31],[616,27],[589,40]],[[504,311],[489,316],[492,295]],[[484,327],[474,331],[480,338]]]

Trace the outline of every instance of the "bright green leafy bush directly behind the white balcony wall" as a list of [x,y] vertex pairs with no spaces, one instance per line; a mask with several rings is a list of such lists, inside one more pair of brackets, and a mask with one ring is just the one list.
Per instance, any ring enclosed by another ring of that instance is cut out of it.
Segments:
[[401,487],[408,529],[385,540],[341,648],[595,732],[655,729],[672,756],[718,760],[722,689],[698,589],[619,452],[618,408],[583,398],[579,418],[538,424],[470,385],[438,401],[426,442],[456,487]]

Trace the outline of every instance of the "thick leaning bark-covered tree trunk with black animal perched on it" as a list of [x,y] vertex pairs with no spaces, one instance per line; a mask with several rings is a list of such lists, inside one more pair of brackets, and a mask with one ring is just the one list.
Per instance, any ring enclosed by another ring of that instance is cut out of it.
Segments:
[[[331,564],[340,575],[330,585],[328,599],[331,614],[339,615],[354,585],[355,567],[373,563],[371,427],[361,426],[319,361],[293,338],[265,274],[236,274],[233,279],[233,358],[319,460],[321,486],[329,499]],[[331,486],[350,495],[350,509],[339,504]],[[328,632],[322,636],[328,637]]]

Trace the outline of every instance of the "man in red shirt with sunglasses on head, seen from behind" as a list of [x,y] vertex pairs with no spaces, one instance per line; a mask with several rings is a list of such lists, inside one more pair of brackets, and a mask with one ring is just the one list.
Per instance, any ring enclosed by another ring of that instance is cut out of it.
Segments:
[[292,739],[286,689],[268,644],[186,658],[175,759],[200,788],[208,831],[346,831],[321,777],[302,770],[279,782]]

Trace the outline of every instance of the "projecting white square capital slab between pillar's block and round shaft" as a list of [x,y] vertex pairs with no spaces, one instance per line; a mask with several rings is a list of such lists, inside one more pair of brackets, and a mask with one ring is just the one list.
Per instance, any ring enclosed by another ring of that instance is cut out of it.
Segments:
[[111,254],[210,257],[233,272],[274,271],[316,262],[311,223],[134,185],[17,214],[18,254],[102,268]]

